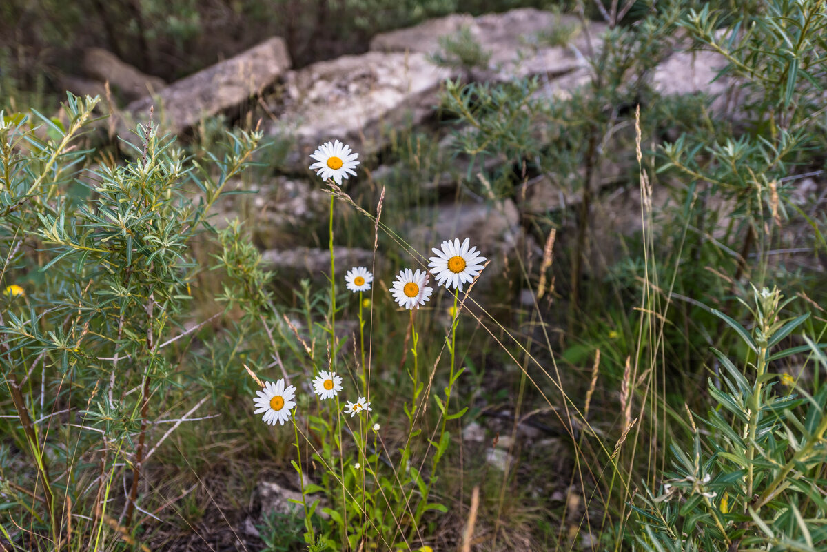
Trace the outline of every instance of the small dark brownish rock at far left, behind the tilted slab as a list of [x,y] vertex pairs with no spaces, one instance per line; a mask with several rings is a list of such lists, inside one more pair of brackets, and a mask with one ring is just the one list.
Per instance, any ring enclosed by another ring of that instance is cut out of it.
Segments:
[[102,83],[109,82],[112,93],[127,101],[144,98],[166,86],[163,79],[143,74],[117,55],[102,48],[89,48],[84,52],[84,71],[89,77]]

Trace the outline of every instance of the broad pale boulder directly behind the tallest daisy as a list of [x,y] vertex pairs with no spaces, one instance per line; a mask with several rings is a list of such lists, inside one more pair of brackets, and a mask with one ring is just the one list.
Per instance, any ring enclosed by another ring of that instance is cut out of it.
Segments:
[[419,53],[367,52],[312,64],[287,75],[270,134],[293,143],[285,160],[291,170],[307,169],[313,150],[333,139],[364,159],[390,143],[389,129],[428,117],[442,82],[453,76]]

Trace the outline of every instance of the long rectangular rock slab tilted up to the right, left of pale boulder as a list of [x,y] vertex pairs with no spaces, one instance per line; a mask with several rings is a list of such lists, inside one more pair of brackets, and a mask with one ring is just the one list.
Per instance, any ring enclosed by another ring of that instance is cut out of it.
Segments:
[[[127,112],[145,119],[151,106],[165,130],[180,133],[213,116],[246,102],[275,83],[290,67],[284,40],[278,36],[250,50],[214,64],[161,89],[151,98],[131,102]],[[127,137],[123,136],[122,137]]]

